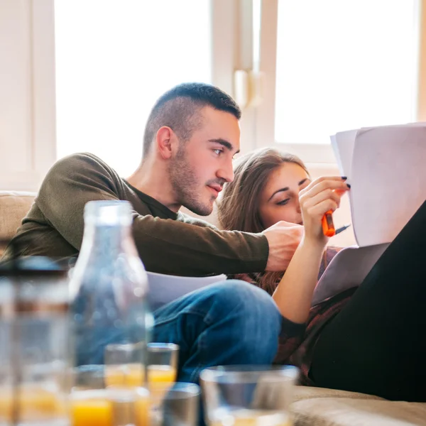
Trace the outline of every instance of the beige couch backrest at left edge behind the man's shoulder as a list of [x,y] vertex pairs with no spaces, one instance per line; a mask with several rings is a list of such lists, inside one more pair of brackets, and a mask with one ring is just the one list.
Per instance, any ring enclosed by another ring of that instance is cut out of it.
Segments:
[[[0,191],[0,238],[10,239],[28,213],[35,198],[34,192]],[[0,255],[3,247],[0,245]]]

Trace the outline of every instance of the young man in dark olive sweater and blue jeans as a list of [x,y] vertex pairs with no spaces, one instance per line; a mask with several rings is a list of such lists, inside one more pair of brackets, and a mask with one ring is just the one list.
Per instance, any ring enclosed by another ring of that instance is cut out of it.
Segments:
[[[14,237],[21,254],[77,256],[84,204],[128,200],[148,271],[200,276],[285,270],[302,226],[280,222],[261,234],[219,231],[179,212],[185,206],[210,214],[224,183],[233,179],[240,116],[234,100],[209,84],[180,84],[166,92],[148,117],[141,165],[126,180],[89,153],[53,165]],[[156,311],[155,340],[178,343],[180,380],[197,380],[209,365],[270,363],[281,321],[266,293],[228,281]]]

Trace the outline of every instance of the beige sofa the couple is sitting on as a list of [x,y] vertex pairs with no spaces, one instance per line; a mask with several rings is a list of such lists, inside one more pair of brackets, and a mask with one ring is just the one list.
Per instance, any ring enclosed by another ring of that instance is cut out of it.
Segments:
[[[34,197],[32,192],[0,191],[0,238],[13,236]],[[296,386],[293,415],[295,426],[426,426],[426,403]]]

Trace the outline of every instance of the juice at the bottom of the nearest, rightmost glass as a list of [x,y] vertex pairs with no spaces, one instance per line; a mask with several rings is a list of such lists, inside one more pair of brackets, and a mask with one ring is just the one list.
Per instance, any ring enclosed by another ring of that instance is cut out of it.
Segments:
[[211,426],[292,426],[288,413],[267,410],[218,410]]

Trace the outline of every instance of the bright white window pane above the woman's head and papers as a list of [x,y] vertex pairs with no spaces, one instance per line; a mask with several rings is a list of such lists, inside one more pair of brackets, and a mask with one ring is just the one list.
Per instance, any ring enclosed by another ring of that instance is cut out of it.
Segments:
[[[274,3],[263,1],[262,12]],[[278,0],[276,58],[263,57],[263,67],[271,60],[276,67],[275,99],[264,107],[274,141],[327,162],[320,145],[329,149],[337,131],[416,121],[419,7],[418,0]]]

